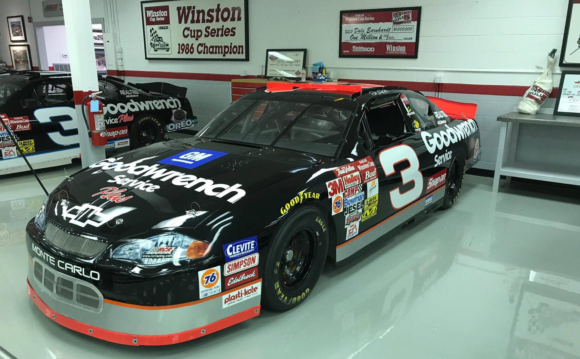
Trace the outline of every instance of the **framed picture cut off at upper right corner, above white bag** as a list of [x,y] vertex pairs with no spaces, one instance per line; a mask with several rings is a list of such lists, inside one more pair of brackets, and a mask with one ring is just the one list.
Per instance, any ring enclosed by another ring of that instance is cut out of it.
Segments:
[[580,0],[568,0],[560,66],[580,66]]

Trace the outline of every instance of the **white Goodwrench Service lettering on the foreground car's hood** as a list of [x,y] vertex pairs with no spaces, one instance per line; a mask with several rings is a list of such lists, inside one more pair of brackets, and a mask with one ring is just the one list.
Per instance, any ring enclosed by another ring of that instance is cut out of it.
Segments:
[[[113,169],[115,172],[127,172],[131,175],[137,175],[142,180],[127,178],[126,175],[118,175],[113,179],[108,180],[107,182],[117,183],[127,187],[133,187],[137,190],[146,192],[153,192],[158,188],[161,188],[161,186],[158,186],[157,184],[148,183],[150,179],[147,179],[146,177],[150,177],[151,179],[158,179],[160,182],[165,182],[166,180],[172,179],[171,184],[174,186],[184,186],[185,188],[198,186],[195,188],[195,191],[203,191],[205,195],[211,195],[218,198],[223,198],[226,195],[233,194],[233,196],[227,200],[230,203],[234,203],[246,195],[246,191],[240,188],[242,186],[240,183],[236,183],[233,186],[220,183],[214,184],[213,180],[211,179],[205,179],[203,177],[197,177],[194,175],[186,175],[185,173],[171,171],[166,168],[159,168],[160,165],[158,164],[150,166],[139,165],[142,161],[156,157],[158,156],[145,157],[137,159],[136,161],[130,162],[128,164],[117,161],[117,158],[107,158],[103,161],[97,162],[96,164],[90,165],[89,168],[97,168],[97,171],[92,172],[93,174]],[[122,157],[119,157],[118,159],[121,158]]]

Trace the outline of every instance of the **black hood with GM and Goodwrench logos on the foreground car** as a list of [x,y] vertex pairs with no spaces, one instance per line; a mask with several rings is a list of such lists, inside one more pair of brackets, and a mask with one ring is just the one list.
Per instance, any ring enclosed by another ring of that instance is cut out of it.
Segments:
[[53,191],[47,215],[64,229],[107,240],[194,228],[216,213],[250,209],[260,188],[320,161],[196,137],[163,142],[75,173]]

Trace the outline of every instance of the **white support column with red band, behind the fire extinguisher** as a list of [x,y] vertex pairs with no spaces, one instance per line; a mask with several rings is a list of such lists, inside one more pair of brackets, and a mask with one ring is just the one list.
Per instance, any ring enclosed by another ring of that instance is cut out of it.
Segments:
[[89,0],[63,0],[63,12],[77,110],[81,161],[82,166],[86,167],[105,158],[104,146],[93,146],[82,117],[82,99],[89,93],[99,91]]

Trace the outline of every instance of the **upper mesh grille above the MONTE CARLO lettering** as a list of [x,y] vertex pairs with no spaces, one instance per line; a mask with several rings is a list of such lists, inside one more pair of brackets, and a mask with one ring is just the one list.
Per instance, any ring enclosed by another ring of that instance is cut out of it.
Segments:
[[105,248],[107,248],[105,242],[67,233],[51,222],[46,224],[44,235],[46,241],[54,245],[56,248],[62,249],[64,252],[74,253],[85,257],[95,257],[100,253],[103,253]]

